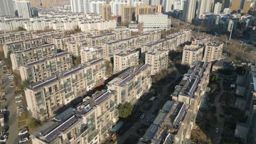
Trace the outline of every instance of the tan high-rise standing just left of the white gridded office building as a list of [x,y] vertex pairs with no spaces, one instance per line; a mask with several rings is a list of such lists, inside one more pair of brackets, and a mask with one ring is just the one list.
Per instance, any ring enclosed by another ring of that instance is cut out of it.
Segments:
[[125,26],[128,22],[131,22],[134,19],[135,15],[135,7],[133,5],[123,5],[121,21],[122,25]]

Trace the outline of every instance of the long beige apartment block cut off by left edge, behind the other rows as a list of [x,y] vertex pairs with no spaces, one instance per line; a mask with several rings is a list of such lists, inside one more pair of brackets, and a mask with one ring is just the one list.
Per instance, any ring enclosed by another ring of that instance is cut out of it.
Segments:
[[10,32],[0,34],[0,44],[10,43],[13,41],[32,39],[33,31]]

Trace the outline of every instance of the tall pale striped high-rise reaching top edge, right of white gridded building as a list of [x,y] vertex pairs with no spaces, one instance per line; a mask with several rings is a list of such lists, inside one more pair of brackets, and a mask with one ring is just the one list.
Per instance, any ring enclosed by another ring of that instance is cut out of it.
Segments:
[[195,18],[197,0],[184,1],[183,17],[185,22],[191,23]]

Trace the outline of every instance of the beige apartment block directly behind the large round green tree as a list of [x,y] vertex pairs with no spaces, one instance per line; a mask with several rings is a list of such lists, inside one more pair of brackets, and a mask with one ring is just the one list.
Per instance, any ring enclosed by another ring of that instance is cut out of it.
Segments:
[[108,89],[117,91],[117,104],[135,104],[152,85],[150,73],[148,64],[135,65],[110,81]]

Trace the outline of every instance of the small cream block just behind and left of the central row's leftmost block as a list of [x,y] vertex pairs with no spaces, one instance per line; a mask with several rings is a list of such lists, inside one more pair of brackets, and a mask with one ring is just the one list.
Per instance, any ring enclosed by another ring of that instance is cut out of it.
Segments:
[[82,41],[70,41],[67,44],[67,52],[72,53],[74,56],[80,56],[80,51],[84,47],[89,46],[89,42],[86,40]]

